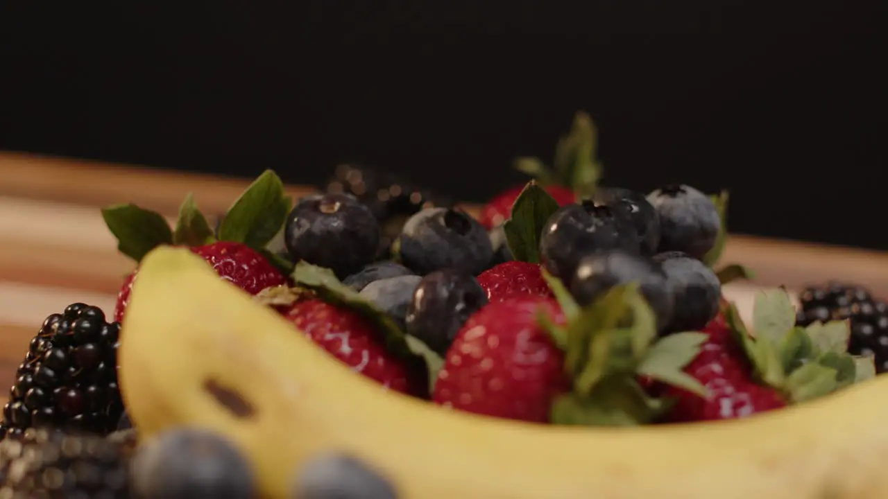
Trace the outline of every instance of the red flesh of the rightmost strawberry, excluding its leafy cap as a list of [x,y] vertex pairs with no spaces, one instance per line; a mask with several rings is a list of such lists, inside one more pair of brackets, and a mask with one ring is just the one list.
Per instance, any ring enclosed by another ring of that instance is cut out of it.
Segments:
[[757,384],[752,378],[749,360],[731,336],[724,313],[718,313],[702,332],[708,333],[710,338],[686,366],[685,372],[706,386],[710,397],[703,399],[690,392],[668,388],[666,394],[678,399],[670,413],[670,421],[734,419],[786,407],[780,392]]

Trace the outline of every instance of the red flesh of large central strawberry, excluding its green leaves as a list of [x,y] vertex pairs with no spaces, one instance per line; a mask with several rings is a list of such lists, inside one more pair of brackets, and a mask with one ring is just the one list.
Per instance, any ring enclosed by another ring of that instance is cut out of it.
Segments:
[[546,423],[551,403],[567,392],[564,354],[538,324],[566,320],[555,300],[511,297],[485,305],[465,322],[435,383],[436,403],[487,416]]

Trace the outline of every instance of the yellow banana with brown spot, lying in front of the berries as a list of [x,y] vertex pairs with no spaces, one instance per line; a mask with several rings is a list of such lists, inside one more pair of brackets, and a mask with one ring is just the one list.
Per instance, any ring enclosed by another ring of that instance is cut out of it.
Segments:
[[718,424],[558,427],[459,413],[340,365],[187,249],[142,262],[120,380],[140,437],[193,424],[250,457],[264,496],[341,450],[408,499],[888,497],[888,377]]

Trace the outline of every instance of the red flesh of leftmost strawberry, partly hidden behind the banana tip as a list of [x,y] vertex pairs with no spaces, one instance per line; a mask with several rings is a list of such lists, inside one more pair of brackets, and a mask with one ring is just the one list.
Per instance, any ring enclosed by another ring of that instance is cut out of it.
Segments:
[[[212,265],[220,277],[231,281],[235,286],[251,295],[257,294],[262,289],[280,286],[287,282],[287,278],[274,268],[274,265],[268,263],[266,257],[240,242],[213,242],[191,248],[191,250]],[[123,312],[130,304],[132,283],[138,273],[139,269],[136,269],[128,275],[123,281],[120,292],[117,293],[115,321],[123,320]]]

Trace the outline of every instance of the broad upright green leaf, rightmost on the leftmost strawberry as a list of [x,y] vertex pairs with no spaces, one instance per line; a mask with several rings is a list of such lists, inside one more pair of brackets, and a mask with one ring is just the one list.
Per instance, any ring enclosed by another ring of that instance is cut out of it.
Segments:
[[266,170],[228,210],[218,238],[242,242],[253,249],[265,248],[281,230],[291,208],[292,200],[284,194],[281,178]]

